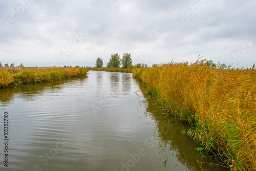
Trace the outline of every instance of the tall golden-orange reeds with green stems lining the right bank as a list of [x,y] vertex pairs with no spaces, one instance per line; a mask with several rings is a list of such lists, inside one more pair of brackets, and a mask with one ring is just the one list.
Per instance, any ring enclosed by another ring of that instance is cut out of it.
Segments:
[[233,170],[256,170],[256,70],[217,69],[203,62],[133,69],[187,134]]

